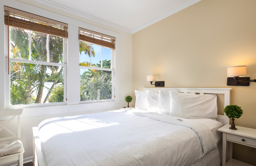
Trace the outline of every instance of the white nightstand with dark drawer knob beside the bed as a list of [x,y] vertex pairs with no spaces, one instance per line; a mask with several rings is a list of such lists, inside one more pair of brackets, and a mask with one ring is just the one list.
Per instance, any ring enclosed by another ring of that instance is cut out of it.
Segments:
[[[226,124],[218,129],[223,134],[222,166],[252,166],[251,164],[232,159],[232,142],[256,148],[256,129],[236,126],[237,130],[231,130],[229,129],[230,126],[230,124]],[[227,141],[231,142],[231,146],[229,147],[229,160],[226,163]]]

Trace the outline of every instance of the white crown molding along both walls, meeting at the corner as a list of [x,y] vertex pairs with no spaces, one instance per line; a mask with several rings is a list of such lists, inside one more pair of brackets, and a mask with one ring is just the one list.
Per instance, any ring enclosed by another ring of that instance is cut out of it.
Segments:
[[77,15],[77,16],[80,16],[80,17],[83,17],[85,19],[89,19],[89,20],[92,20],[92,21],[95,21],[95,22],[98,22],[100,24],[103,24],[103,25],[106,25],[106,26],[110,26],[112,28],[116,28],[116,29],[119,29],[119,30],[122,30],[124,32],[127,32],[127,33],[130,33],[130,34],[134,34],[138,31],[140,31],[141,29],[144,29],[152,24],[155,24],[156,22],[162,20],[162,19],[165,19],[169,16],[171,16],[172,14],[175,14],[193,4],[196,4],[197,2],[201,1],[201,0],[189,0],[175,8],[173,8],[172,10],[156,17],[155,19],[152,19],[150,21],[148,21],[147,23],[135,28],[135,29],[128,29],[128,28],[125,28],[123,26],[119,26],[119,25],[116,25],[116,24],[113,24],[111,22],[108,22],[106,20],[103,20],[103,19],[99,19],[97,17],[94,17],[92,15],[89,15],[89,14],[86,14],[84,12],[81,12],[81,11],[76,11],[72,8],[69,8],[69,7],[66,7],[64,5],[60,5],[60,4],[57,4],[55,2],[52,2],[50,0],[33,0],[35,2],[38,2],[38,3],[41,3],[41,4],[45,4],[47,6],[50,6],[50,7],[53,7],[53,8],[56,8],[56,9],[59,9],[59,10],[62,10],[62,11],[66,11],[68,13],[71,13],[71,14],[74,14],[74,15]]

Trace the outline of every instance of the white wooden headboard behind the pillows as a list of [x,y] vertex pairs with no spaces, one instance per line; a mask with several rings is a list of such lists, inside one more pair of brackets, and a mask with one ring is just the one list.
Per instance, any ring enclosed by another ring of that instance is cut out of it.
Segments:
[[[230,105],[230,90],[231,88],[143,88],[144,91],[149,90],[152,92],[156,92],[158,90],[178,90],[178,92],[183,93],[197,93],[197,94],[224,94],[224,107],[227,105]],[[223,125],[229,124],[229,118],[224,115],[219,115],[216,118],[218,121],[220,121]]]

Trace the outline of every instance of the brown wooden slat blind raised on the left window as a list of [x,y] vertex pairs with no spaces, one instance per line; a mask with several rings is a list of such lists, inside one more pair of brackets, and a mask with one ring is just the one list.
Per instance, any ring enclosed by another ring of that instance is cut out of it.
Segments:
[[[10,9],[10,8],[7,7],[5,9]],[[15,11],[17,11],[17,9],[15,9]],[[24,11],[21,11],[21,12],[24,13]],[[18,16],[19,18],[13,17],[14,15]],[[31,13],[28,13],[28,15],[31,16]],[[35,15],[35,17],[36,17],[36,15]],[[41,21],[35,20],[35,19],[33,19],[33,17],[31,18],[31,20],[33,20],[35,22],[28,21],[25,19],[27,19],[27,18],[20,16],[19,13],[11,13],[11,11],[5,10],[5,16],[4,16],[5,25],[14,26],[17,28],[27,29],[27,30],[31,30],[31,31],[36,31],[36,32],[44,33],[44,34],[51,34],[54,36],[68,38],[67,26],[61,27],[62,29],[60,29],[60,28],[58,28],[59,25],[56,25],[56,27],[53,27],[53,26],[48,26],[48,25],[37,23],[37,22],[41,22]],[[48,22],[48,20],[44,20],[44,22]],[[54,21],[54,22],[56,22],[56,21]]]

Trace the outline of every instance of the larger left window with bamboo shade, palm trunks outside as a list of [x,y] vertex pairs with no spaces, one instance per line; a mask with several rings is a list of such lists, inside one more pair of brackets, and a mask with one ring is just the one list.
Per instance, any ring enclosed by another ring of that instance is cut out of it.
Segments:
[[6,6],[4,9],[10,80],[7,106],[66,103],[67,25]]

